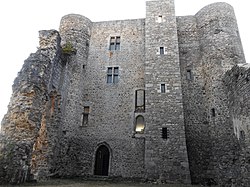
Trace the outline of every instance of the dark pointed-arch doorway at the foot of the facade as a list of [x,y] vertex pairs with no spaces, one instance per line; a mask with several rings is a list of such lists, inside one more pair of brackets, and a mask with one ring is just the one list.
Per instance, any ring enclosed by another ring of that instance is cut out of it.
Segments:
[[109,149],[105,145],[101,145],[96,150],[94,175],[108,176],[109,155]]

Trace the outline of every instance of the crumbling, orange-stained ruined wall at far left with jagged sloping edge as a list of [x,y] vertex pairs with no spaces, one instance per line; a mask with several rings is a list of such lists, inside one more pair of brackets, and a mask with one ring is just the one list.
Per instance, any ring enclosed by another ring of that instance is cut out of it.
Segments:
[[25,61],[14,81],[8,112],[1,123],[3,182],[22,183],[48,173],[52,137],[56,136],[52,128],[52,137],[47,134],[49,93],[51,71],[60,56],[60,37],[52,30],[40,31],[39,38],[40,48]]

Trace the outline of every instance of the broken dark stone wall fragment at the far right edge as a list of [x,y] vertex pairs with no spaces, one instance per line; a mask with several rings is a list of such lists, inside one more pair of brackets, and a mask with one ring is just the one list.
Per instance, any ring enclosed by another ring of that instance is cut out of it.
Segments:
[[235,66],[224,77],[227,98],[229,103],[230,119],[233,122],[234,138],[237,139],[240,152],[240,185],[250,185],[250,68]]

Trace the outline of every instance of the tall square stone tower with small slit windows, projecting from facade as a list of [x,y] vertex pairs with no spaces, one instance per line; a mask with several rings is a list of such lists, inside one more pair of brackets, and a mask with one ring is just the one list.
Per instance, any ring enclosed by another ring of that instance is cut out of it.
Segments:
[[148,1],[145,28],[146,177],[190,183],[174,1]]

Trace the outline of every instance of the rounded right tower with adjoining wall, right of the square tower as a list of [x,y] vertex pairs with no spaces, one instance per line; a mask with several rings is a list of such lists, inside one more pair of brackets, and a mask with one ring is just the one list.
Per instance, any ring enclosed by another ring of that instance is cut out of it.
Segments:
[[227,70],[245,62],[233,8],[211,4],[178,23],[192,182],[235,184],[239,147],[222,82]]

